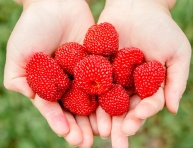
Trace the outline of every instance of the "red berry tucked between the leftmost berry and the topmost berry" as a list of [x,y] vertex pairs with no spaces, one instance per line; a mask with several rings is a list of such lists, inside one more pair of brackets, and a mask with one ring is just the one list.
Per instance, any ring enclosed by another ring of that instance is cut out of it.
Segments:
[[55,59],[58,64],[65,72],[71,75],[74,74],[76,64],[85,56],[85,48],[76,42],[63,44],[55,53]]

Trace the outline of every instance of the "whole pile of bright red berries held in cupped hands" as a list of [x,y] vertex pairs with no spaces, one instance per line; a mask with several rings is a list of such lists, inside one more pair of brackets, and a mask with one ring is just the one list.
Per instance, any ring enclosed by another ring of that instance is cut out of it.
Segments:
[[165,69],[158,61],[145,61],[138,48],[118,47],[113,25],[93,25],[83,45],[65,43],[54,58],[35,53],[26,65],[27,82],[41,98],[60,100],[74,114],[89,115],[100,105],[111,116],[122,115],[131,95],[144,99],[158,90]]

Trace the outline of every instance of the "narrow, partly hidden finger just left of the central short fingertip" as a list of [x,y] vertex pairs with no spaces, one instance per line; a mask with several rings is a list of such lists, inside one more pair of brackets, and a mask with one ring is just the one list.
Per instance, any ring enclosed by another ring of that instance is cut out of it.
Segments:
[[92,127],[92,132],[95,136],[99,135],[99,130],[98,130],[98,126],[97,126],[97,117],[96,117],[96,113],[92,113],[89,115],[89,120],[90,120],[90,124]]

